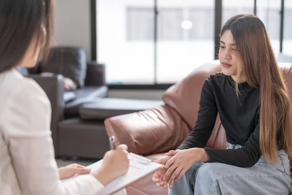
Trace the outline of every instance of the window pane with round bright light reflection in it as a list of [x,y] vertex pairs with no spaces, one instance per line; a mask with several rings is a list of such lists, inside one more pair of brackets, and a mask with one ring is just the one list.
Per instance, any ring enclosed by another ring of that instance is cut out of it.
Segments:
[[174,83],[214,59],[215,0],[158,0],[157,82]]

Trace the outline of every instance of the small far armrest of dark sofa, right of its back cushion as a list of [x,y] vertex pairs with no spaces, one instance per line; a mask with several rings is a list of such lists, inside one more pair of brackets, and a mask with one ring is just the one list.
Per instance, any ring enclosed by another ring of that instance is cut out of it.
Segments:
[[106,85],[106,67],[96,61],[87,63],[87,76],[85,79],[86,86],[103,86]]

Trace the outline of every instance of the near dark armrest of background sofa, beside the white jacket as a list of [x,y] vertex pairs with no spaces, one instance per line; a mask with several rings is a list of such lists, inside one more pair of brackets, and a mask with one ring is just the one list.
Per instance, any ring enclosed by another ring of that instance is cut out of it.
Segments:
[[64,119],[64,87],[63,76],[42,77],[40,75],[29,75],[33,78],[47,94],[52,106],[51,131],[55,148],[55,155],[58,155],[57,146],[57,124]]

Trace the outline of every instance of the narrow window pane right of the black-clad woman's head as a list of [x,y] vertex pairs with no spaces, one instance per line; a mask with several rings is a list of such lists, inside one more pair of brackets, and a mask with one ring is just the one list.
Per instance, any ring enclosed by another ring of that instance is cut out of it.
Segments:
[[281,0],[257,0],[256,15],[268,31],[276,58],[280,52]]

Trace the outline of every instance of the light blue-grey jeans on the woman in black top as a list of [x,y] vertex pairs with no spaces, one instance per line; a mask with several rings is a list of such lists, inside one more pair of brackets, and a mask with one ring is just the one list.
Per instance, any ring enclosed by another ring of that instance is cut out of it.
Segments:
[[[227,149],[240,147],[230,144]],[[291,191],[289,159],[283,150],[277,153],[275,165],[268,165],[261,156],[250,168],[196,162],[173,183],[169,195],[288,195]]]

